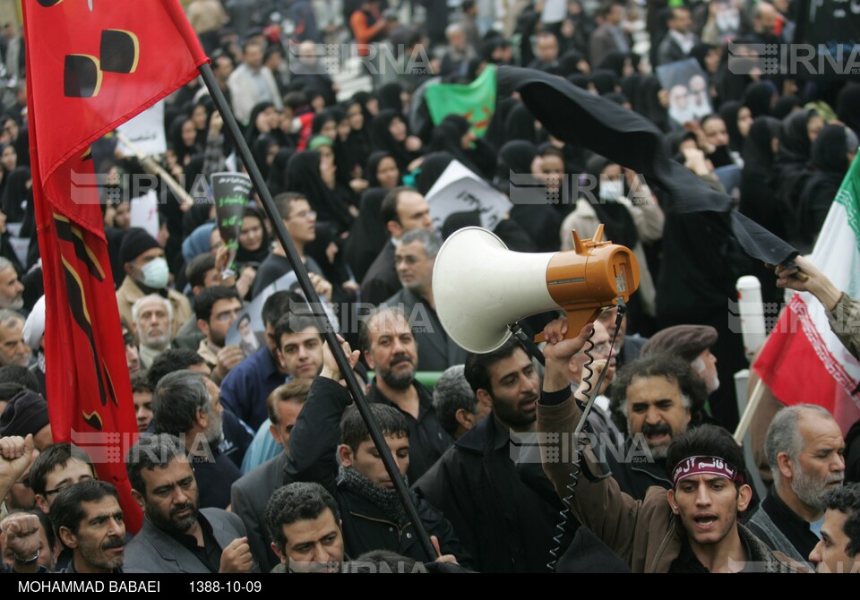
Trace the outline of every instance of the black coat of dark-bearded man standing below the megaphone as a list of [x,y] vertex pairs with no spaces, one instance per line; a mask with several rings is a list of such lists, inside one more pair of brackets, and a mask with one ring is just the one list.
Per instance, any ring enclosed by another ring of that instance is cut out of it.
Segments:
[[451,521],[477,571],[546,573],[562,503],[539,458],[518,466],[511,447],[508,433],[487,416],[414,487]]

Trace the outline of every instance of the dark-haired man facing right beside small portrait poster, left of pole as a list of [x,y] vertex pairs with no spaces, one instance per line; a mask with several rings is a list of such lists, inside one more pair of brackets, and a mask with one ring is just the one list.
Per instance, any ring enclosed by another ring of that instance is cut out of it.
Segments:
[[194,298],[197,327],[205,338],[200,340],[197,354],[212,370],[212,381],[220,384],[236,364],[245,360],[238,346],[226,346],[230,325],[242,312],[242,300],[235,287],[206,287]]

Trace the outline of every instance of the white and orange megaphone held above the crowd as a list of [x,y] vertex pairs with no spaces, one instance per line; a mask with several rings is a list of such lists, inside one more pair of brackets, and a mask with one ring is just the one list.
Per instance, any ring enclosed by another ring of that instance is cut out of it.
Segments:
[[[436,314],[460,347],[484,354],[511,337],[508,325],[562,308],[567,337],[575,338],[601,309],[626,302],[639,288],[639,262],[622,245],[573,235],[573,250],[517,253],[481,227],[450,236],[433,268]],[[540,336],[538,336],[540,337]]]

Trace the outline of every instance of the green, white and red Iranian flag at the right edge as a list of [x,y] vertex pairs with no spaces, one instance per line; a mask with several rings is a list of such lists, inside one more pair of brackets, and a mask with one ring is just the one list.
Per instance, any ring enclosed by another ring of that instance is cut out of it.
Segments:
[[[836,287],[860,297],[860,159],[848,169],[810,258]],[[814,296],[795,294],[753,370],[785,404],[825,407],[847,430],[860,417],[860,364],[839,342],[830,321]]]

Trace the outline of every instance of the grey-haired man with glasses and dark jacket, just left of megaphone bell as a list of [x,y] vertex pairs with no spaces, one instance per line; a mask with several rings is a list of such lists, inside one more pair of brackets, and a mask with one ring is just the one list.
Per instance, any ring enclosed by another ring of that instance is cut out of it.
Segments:
[[438,236],[414,229],[400,238],[394,250],[394,267],[403,288],[385,304],[400,307],[409,318],[421,348],[418,371],[444,371],[452,364],[466,362],[466,350],[448,337],[436,315],[433,265],[441,247]]

